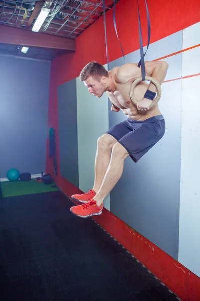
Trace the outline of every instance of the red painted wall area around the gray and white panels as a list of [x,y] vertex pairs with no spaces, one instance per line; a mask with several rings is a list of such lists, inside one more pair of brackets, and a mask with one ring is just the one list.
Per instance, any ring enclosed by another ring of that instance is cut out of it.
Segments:
[[[200,21],[199,0],[147,0],[151,19],[151,43],[180,31]],[[145,0],[139,0],[142,23],[143,43],[147,44],[147,20]],[[138,18],[136,0],[120,0],[116,5],[116,23],[120,41],[125,54],[139,48]],[[109,61],[122,56],[113,26],[113,9],[106,13]],[[51,66],[49,119],[48,128],[56,129],[57,159],[59,171],[59,133],[58,133],[58,101],[57,87],[66,81],[79,76],[81,69],[92,60],[101,64],[107,63],[104,39],[103,17],[97,20],[76,39],[76,52],[55,58]],[[46,172],[53,174],[53,160],[48,158]],[[63,179],[60,175],[55,179],[61,190],[71,196],[78,193],[77,187]],[[146,265],[161,281],[174,291],[183,301],[198,301],[200,295],[200,279],[188,271],[165,252],[151,242],[155,253],[145,249],[142,242],[145,238],[133,233],[133,230],[109,211],[96,218],[109,233],[122,243],[138,260]],[[134,235],[134,238],[133,238]],[[131,236],[131,237],[130,237]]]

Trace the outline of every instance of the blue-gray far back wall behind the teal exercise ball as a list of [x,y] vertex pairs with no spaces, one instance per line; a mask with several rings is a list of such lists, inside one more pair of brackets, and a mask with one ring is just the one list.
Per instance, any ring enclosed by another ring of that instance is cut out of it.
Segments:
[[49,62],[0,57],[0,173],[46,170]]

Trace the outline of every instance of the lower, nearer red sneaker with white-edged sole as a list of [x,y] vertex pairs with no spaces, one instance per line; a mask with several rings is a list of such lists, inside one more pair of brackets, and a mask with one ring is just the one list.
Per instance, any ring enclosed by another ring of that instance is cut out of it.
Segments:
[[91,200],[83,205],[73,206],[70,211],[79,217],[89,217],[92,215],[100,215],[103,210],[103,204],[97,206],[96,201]]

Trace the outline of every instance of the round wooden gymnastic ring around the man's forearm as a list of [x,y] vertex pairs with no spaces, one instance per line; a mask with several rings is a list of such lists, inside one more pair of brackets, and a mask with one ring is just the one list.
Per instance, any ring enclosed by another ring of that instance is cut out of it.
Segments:
[[[150,105],[150,107],[154,106],[161,98],[162,95],[162,90],[161,90],[161,86],[158,83],[158,81],[156,79],[154,79],[153,77],[150,76],[145,76],[145,80],[150,81],[151,83],[153,83],[157,89],[157,96],[152,100],[152,103]],[[133,83],[131,84],[130,87],[130,99],[132,100],[132,102],[137,105],[137,103],[139,101],[136,100],[135,96],[134,96],[134,89],[136,87],[136,85],[138,85],[138,83],[140,83],[142,81],[142,77],[138,77],[135,81],[133,81]]]

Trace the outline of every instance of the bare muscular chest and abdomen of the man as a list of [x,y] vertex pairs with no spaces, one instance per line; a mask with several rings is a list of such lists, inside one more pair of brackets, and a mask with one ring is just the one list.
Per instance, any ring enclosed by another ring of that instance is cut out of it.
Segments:
[[[132,120],[145,120],[147,118],[160,115],[158,104],[150,108],[148,111],[139,111],[137,106],[130,98],[130,88],[132,81],[123,84],[115,83],[115,92],[106,92],[109,99],[116,107],[120,108],[127,118]],[[134,90],[134,95],[137,100],[141,100],[148,89],[148,84],[144,81],[140,82]]]

